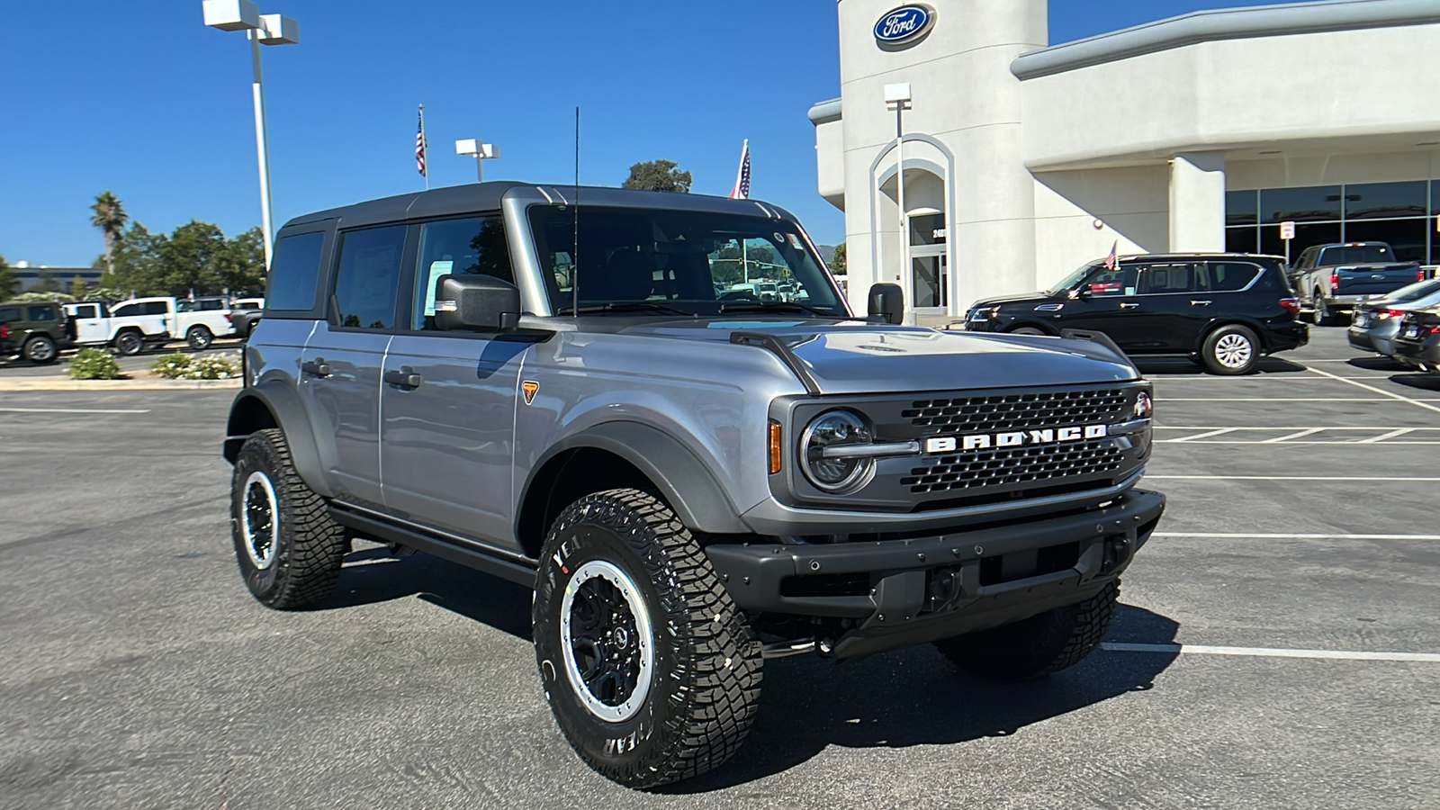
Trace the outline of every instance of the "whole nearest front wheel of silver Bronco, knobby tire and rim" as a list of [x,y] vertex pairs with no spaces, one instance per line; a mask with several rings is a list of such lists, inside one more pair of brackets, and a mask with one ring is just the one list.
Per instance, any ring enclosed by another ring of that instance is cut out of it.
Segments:
[[629,787],[729,760],[755,718],[760,646],[675,513],[634,489],[586,496],[540,561],[536,662],[580,758]]

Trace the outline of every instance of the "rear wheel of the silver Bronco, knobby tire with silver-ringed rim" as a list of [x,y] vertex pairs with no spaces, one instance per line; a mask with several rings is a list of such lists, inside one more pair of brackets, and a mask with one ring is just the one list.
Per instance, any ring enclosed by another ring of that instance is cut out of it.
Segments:
[[235,460],[230,535],[245,585],[278,610],[328,597],[348,546],[325,499],[295,473],[285,434],[275,428],[251,434]]

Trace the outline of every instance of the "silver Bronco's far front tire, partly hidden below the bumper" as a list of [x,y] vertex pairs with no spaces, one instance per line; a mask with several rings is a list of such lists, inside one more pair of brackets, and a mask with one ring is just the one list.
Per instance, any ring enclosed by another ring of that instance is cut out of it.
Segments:
[[1119,581],[1089,600],[1048,610],[1014,624],[936,641],[950,662],[975,675],[999,680],[1028,680],[1080,663],[1110,628]]

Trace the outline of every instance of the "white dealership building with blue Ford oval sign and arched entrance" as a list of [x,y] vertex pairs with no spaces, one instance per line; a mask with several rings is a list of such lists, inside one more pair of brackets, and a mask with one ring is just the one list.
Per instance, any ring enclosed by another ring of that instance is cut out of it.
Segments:
[[886,281],[912,317],[959,316],[1112,246],[1378,239],[1440,264],[1434,0],[1198,12],[1054,46],[1047,0],[838,12],[840,98],[809,118],[861,310]]

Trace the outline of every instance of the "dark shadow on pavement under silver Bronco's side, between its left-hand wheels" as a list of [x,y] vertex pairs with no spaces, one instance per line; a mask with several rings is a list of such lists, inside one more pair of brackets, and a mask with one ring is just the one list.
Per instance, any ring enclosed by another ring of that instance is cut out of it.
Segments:
[[419,597],[501,633],[530,640],[530,588],[428,553],[390,556],[384,548],[346,555],[340,582],[320,610]]

